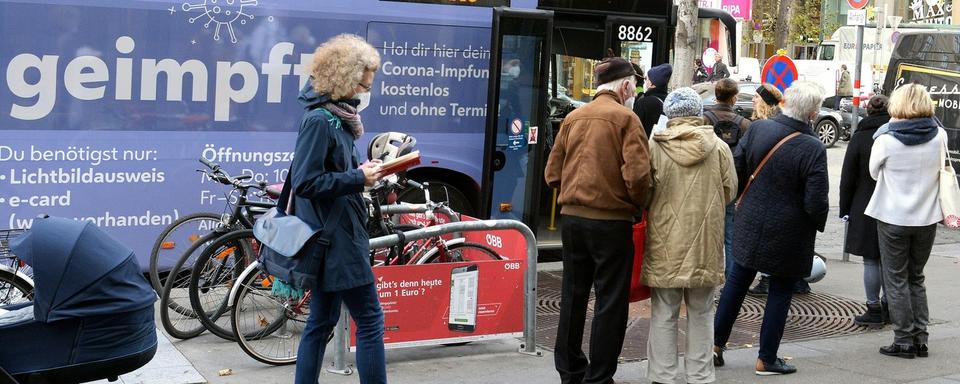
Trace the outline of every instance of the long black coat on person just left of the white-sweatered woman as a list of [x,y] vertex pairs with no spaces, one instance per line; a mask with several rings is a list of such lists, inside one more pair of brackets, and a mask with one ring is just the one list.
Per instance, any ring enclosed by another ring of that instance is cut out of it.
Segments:
[[877,181],[870,177],[869,167],[873,134],[888,121],[890,115],[883,113],[869,116],[860,122],[860,127],[847,145],[843,171],[840,174],[840,217],[850,216],[844,250],[865,259],[880,258],[877,220],[864,215],[863,211],[867,209],[867,203],[877,186]]

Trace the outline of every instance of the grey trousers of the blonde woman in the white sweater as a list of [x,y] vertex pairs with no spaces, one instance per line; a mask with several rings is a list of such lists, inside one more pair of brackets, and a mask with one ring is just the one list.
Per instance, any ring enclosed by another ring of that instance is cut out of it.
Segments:
[[877,234],[893,342],[904,346],[926,344],[930,311],[923,267],[930,258],[937,226],[901,227],[877,220]]

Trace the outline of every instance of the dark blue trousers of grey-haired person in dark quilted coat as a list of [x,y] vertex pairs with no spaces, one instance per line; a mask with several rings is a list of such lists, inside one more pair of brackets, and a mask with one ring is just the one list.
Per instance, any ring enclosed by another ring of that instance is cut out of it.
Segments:
[[[728,274],[720,304],[717,306],[717,318],[714,321],[713,345],[724,347],[733,331],[733,323],[740,315],[743,299],[747,296],[750,283],[757,276],[757,270],[733,263]],[[793,287],[797,279],[792,277],[770,276],[770,289],[767,293],[767,305],[763,308],[763,325],[760,326],[760,360],[771,364],[777,359],[783,328],[787,324],[787,311],[793,299]]]

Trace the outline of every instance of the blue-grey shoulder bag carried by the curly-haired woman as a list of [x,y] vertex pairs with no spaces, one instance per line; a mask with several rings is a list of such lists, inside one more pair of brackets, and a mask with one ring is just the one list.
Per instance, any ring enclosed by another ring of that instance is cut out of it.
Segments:
[[293,288],[312,289],[322,275],[323,258],[343,206],[335,206],[330,215],[332,220],[324,220],[331,225],[313,228],[296,216],[290,190],[288,176],[278,201],[278,207],[286,201],[286,210],[278,207],[268,210],[254,224],[253,236],[263,245],[260,263],[264,271]]

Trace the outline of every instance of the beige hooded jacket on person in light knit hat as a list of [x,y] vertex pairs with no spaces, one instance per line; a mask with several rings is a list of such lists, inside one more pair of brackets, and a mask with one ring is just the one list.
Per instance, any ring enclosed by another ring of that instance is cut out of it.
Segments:
[[730,148],[702,118],[676,118],[650,140],[650,163],[644,284],[723,284],[724,209],[737,193]]

